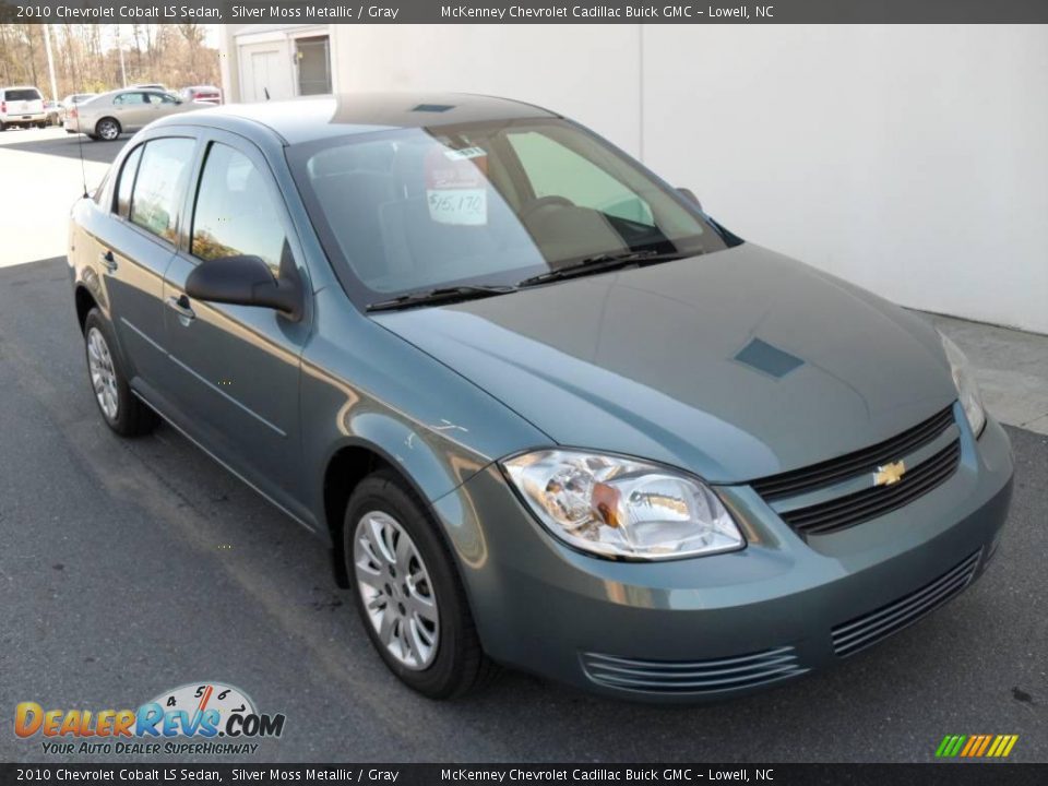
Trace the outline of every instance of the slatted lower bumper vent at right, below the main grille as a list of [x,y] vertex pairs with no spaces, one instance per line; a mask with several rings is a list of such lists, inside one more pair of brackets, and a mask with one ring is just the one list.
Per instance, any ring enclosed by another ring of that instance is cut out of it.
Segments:
[[981,553],[982,550],[979,549],[930,584],[888,606],[836,626],[831,632],[833,651],[841,657],[853,655],[939,608],[968,585]]

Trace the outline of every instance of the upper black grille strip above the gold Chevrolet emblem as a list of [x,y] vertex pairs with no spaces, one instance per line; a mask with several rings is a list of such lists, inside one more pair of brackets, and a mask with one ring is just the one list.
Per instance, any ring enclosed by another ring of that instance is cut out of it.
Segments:
[[907,429],[892,439],[879,442],[872,448],[812,464],[801,469],[772,475],[754,480],[750,486],[767,502],[783,497],[796,497],[838,480],[872,472],[880,464],[905,456],[907,453],[912,453],[934,440],[952,424],[953,406],[951,405],[912,429]]

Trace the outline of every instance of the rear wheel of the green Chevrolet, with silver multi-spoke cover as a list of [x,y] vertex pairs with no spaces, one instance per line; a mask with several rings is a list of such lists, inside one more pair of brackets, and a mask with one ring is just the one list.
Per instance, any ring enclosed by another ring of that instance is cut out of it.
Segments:
[[84,321],[84,348],[98,412],[106,425],[121,437],[148,433],[159,418],[131,393],[115,347],[109,324],[97,308],[92,309]]

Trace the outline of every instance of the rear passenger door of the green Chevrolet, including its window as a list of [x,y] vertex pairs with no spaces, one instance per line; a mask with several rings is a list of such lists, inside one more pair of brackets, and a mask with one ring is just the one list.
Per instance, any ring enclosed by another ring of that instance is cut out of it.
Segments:
[[109,315],[132,385],[163,384],[164,273],[175,253],[181,205],[196,147],[191,135],[157,136],[122,159],[109,215],[87,245],[86,262],[103,281]]

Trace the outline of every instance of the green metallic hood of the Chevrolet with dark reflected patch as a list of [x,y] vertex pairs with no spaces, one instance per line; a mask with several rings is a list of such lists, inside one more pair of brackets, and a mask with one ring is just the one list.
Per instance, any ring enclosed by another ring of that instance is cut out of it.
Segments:
[[712,483],[874,444],[956,397],[931,326],[751,243],[374,318],[550,441]]

